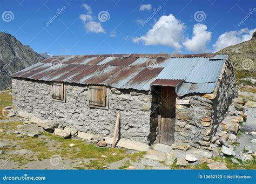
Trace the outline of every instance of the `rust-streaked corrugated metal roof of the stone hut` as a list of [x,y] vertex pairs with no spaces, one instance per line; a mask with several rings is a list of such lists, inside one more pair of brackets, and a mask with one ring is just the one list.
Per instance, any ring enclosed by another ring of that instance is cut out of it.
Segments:
[[[178,96],[184,96],[189,93],[211,93],[226,57],[214,54],[203,54],[202,57],[171,57],[167,54],[56,56],[19,71],[12,77],[137,90],[150,90],[150,84],[165,81],[162,79],[183,80]],[[153,69],[146,67],[149,61],[156,62]],[[53,63],[61,67],[56,70],[52,67]]]

